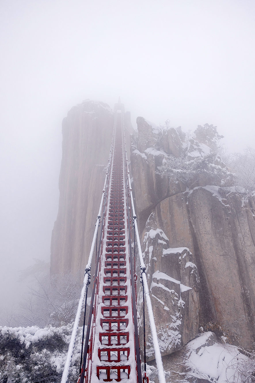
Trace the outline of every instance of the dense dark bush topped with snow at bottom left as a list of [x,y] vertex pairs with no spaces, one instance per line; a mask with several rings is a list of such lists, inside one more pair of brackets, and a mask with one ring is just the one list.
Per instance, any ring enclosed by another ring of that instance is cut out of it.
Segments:
[[[0,327],[0,383],[53,383],[61,379],[72,325],[62,327]],[[71,362],[71,380],[80,367],[80,334]]]

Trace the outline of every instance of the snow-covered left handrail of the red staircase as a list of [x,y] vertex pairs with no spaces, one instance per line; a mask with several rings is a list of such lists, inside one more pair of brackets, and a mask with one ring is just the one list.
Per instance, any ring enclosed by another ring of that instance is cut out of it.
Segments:
[[[112,137],[114,137],[114,133],[113,133]],[[69,347],[68,347],[67,358],[66,358],[66,361],[65,361],[65,366],[64,366],[64,370],[63,370],[63,374],[62,374],[62,378],[61,378],[61,383],[66,383],[67,379],[68,379],[71,359],[72,359],[72,356],[73,356],[73,349],[75,347],[75,340],[76,340],[77,331],[78,331],[79,322],[80,322],[80,317],[81,317],[81,310],[82,310],[83,301],[84,301],[84,297],[85,297],[85,293],[86,293],[86,287],[89,285],[89,281],[90,281],[91,262],[92,262],[93,252],[94,252],[94,248],[95,248],[95,244],[96,244],[97,230],[98,230],[99,224],[100,224],[102,206],[103,206],[103,203],[104,203],[104,196],[105,196],[105,193],[106,193],[107,179],[108,179],[108,174],[109,174],[109,170],[110,170],[110,164],[111,164],[111,160],[112,160],[112,148],[113,148],[113,138],[112,138],[110,155],[109,155],[108,166],[107,166],[107,171],[106,171],[106,178],[104,180],[104,188],[103,188],[103,191],[102,191],[101,203],[100,203],[99,211],[98,211],[98,214],[97,214],[96,227],[95,227],[94,236],[93,236],[93,240],[92,240],[92,244],[91,244],[91,248],[90,248],[90,252],[89,252],[88,264],[85,267],[85,274],[84,274],[84,280],[83,280],[83,288],[81,290],[81,296],[80,296],[80,300],[79,300],[79,303],[78,303],[78,309],[77,309],[77,313],[76,313],[76,316],[75,316],[75,321],[74,321],[74,324],[73,324],[73,331],[72,331],[72,334],[71,334],[71,339],[70,339],[70,343],[69,343]]]

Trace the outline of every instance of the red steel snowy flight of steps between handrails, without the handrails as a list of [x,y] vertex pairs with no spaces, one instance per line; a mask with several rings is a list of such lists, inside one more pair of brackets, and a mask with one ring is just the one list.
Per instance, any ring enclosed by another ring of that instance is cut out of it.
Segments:
[[142,381],[125,164],[123,114],[117,110],[85,382]]

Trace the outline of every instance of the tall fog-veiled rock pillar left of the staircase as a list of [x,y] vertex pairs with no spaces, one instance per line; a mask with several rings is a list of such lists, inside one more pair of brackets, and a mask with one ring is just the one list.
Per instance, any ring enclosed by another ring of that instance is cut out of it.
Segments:
[[84,268],[109,158],[114,115],[100,101],[83,101],[62,123],[59,209],[52,231],[51,273]]

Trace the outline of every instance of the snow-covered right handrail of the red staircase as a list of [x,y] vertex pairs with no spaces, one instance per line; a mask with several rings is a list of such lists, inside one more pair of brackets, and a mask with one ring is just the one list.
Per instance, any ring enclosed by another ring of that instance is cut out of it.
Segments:
[[[124,132],[124,137],[125,137],[125,132]],[[141,270],[141,277],[143,280],[143,286],[145,289],[146,304],[147,304],[148,315],[149,315],[149,323],[151,326],[152,342],[153,342],[153,347],[154,347],[154,352],[155,352],[156,365],[158,367],[159,383],[166,383],[166,378],[165,378],[165,373],[164,373],[164,368],[163,368],[163,363],[162,363],[162,358],[161,358],[161,352],[160,352],[160,348],[159,348],[158,335],[157,335],[156,325],[155,325],[155,321],[154,321],[153,310],[152,310],[152,306],[151,306],[151,298],[149,295],[149,287],[148,287],[147,278],[146,278],[146,272],[145,272],[146,267],[145,267],[145,263],[143,262],[143,253],[142,253],[141,244],[140,244],[140,237],[139,237],[138,226],[137,226],[137,218],[136,218],[136,214],[135,214],[135,205],[134,205],[134,201],[133,201],[132,187],[131,187],[130,175],[129,175],[129,170],[128,170],[128,158],[127,158],[125,139],[124,139],[124,145],[125,145],[126,164],[127,164],[128,188],[129,188],[129,192],[130,192],[132,213],[133,213],[133,223],[134,223],[134,229],[135,229],[135,234],[136,234],[136,239],[137,239],[136,243],[138,246],[138,253],[139,253],[139,258],[140,258],[140,270]]]

